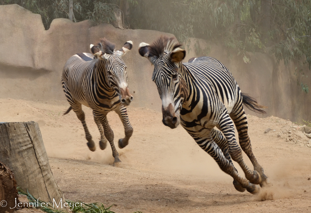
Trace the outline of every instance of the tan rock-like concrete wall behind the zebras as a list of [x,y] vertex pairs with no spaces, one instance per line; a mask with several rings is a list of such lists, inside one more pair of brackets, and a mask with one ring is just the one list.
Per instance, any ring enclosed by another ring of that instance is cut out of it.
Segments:
[[[134,96],[131,105],[160,111],[160,98],[151,81],[153,66],[137,50],[140,42],[152,43],[163,34],[166,33],[120,30],[108,24],[94,26],[91,21],[72,23],[68,19],[54,19],[49,30],[44,30],[40,15],[18,5],[0,5],[0,98],[65,99],[61,74],[67,59],[79,52],[90,52],[90,44],[106,37],[116,48],[133,41],[133,49],[123,57],[128,67],[129,89]],[[206,45],[206,41],[200,42]],[[201,55],[187,51],[185,62],[198,56]],[[238,57],[229,59],[225,49],[214,44],[209,56],[229,68],[243,92],[269,107],[265,116],[311,120],[311,98],[297,86],[294,65],[277,65],[262,53],[250,53],[251,63],[246,64]]]

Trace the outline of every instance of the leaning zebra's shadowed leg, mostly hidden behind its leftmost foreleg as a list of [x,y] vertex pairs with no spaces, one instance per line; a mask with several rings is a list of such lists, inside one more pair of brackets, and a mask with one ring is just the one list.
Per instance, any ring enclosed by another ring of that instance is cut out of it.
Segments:
[[[211,136],[212,136],[213,140],[216,142],[216,144],[220,147],[220,149],[223,152],[223,154],[225,155],[226,159],[229,160],[230,164],[233,164],[231,157],[230,157],[230,154],[229,154],[228,141],[225,139],[225,137],[221,134],[221,132],[219,130],[216,130],[214,128],[212,129]],[[235,167],[234,167],[234,170],[236,172],[238,172],[238,170],[236,170]],[[233,186],[239,192],[245,191],[245,188],[243,188],[241,186],[241,184],[239,184],[239,182],[235,179],[233,180]]]

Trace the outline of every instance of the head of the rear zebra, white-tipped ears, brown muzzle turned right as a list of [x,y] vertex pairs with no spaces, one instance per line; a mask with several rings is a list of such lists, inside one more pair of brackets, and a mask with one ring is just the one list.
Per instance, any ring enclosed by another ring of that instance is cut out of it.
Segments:
[[94,57],[104,61],[106,83],[117,92],[121,103],[125,106],[131,103],[133,96],[128,90],[126,66],[121,57],[132,49],[132,45],[132,41],[127,41],[121,49],[115,51],[115,45],[105,38],[100,39],[100,43],[96,46],[90,45]]

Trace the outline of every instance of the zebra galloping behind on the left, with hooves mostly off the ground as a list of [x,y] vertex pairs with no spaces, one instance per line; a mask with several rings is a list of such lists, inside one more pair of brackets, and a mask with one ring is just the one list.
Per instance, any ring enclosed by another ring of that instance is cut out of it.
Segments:
[[106,115],[110,111],[116,112],[124,126],[125,137],[119,139],[119,148],[128,145],[133,127],[129,122],[125,106],[133,100],[128,90],[128,77],[122,56],[132,49],[132,41],[115,51],[115,44],[107,39],[100,39],[100,43],[90,45],[91,53],[77,53],[68,59],[63,69],[62,86],[70,104],[67,114],[72,109],[81,121],[87,146],[95,151],[95,144],[86,126],[85,114],[81,105],[93,110],[94,121],[100,131],[100,149],[106,148],[107,140],[112,148],[114,166],[121,161],[114,146],[114,132],[109,126]]

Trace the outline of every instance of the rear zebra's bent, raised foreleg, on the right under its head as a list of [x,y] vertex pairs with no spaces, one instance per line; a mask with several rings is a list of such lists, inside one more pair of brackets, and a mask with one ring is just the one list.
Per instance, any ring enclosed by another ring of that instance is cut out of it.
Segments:
[[124,132],[125,132],[125,137],[119,139],[119,148],[122,149],[125,146],[128,145],[128,140],[130,139],[130,137],[133,134],[133,127],[128,119],[128,113],[126,110],[126,107],[123,105],[120,105],[120,107],[118,107],[115,112],[119,115],[123,126],[124,126]]

